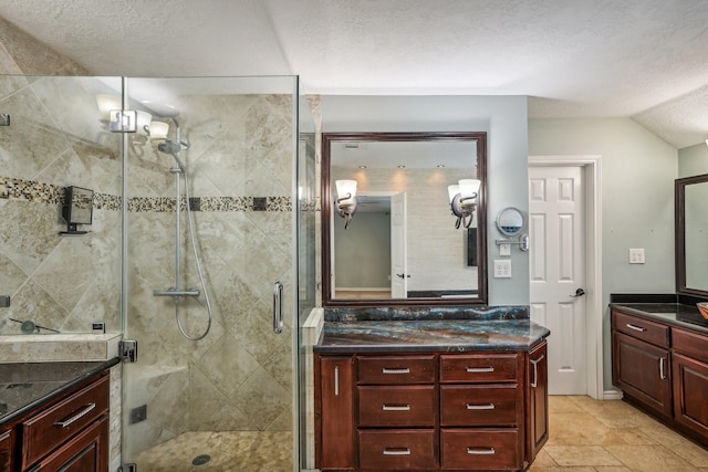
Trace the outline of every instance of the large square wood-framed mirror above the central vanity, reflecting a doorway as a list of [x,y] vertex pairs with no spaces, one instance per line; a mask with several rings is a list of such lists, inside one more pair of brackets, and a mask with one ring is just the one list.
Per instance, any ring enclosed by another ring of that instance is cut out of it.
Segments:
[[[323,305],[486,304],[486,133],[324,133]],[[456,229],[448,187],[467,179]]]

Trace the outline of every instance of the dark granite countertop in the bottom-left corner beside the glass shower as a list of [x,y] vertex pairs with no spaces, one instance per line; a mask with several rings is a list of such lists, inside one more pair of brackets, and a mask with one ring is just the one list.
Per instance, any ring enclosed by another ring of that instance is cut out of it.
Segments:
[[118,361],[0,364],[0,428]]

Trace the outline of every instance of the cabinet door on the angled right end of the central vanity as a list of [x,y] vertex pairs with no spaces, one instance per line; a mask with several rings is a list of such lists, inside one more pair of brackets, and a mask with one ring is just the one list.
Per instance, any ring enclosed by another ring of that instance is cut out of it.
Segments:
[[529,353],[527,382],[527,460],[533,461],[549,439],[549,360],[545,340]]

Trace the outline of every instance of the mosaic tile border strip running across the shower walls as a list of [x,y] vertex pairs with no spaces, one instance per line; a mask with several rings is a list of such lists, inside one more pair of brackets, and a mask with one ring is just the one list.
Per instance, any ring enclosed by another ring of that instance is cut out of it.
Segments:
[[[64,203],[64,187],[33,180],[0,177],[0,198],[34,201],[46,204]],[[121,210],[122,198],[116,195],[93,195],[97,210]],[[183,198],[183,209],[187,200]],[[292,211],[290,197],[195,197],[189,199],[192,211]],[[133,197],[128,199],[128,212],[174,212],[174,197]]]

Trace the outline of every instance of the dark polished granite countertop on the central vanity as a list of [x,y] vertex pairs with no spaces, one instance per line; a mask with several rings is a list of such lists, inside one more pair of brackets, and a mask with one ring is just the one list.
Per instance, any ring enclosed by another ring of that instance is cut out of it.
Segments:
[[315,353],[529,350],[551,332],[530,319],[325,322]]

